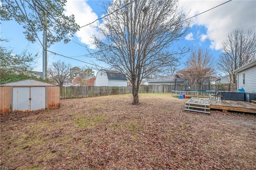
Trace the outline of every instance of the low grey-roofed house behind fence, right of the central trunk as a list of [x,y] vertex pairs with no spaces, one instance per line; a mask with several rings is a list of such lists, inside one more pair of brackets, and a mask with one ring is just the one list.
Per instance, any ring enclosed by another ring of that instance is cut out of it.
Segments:
[[161,85],[161,84],[182,84],[184,85],[184,80],[181,78],[177,78],[177,80],[175,81],[175,76],[166,76],[166,77],[158,77],[155,79],[150,79],[148,80],[148,85]]

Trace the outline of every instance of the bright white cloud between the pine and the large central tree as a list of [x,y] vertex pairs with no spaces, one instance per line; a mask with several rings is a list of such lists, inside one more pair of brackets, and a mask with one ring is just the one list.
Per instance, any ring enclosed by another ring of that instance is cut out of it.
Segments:
[[[78,25],[84,26],[98,19],[98,16],[92,11],[92,8],[84,0],[67,0],[65,6],[65,14],[70,16],[74,14],[76,23]],[[92,45],[92,35],[97,34],[97,29],[91,26],[96,25],[97,22],[80,28],[76,32],[76,36],[80,41],[89,46],[89,48],[94,49]]]

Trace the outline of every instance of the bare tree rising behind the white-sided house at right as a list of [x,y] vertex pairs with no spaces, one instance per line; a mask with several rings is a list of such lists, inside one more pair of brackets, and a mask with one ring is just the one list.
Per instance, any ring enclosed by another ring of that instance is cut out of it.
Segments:
[[219,69],[230,76],[230,82],[236,82],[234,70],[256,59],[256,33],[252,30],[234,29],[222,43]]

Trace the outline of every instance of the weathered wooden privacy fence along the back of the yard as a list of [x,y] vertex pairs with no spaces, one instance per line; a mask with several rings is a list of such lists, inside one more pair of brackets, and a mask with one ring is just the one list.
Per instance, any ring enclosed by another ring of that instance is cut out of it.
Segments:
[[[190,88],[188,88],[190,87]],[[172,90],[225,90],[235,91],[236,84],[213,84],[213,85],[140,85],[139,93],[171,93]],[[60,98],[86,98],[94,96],[108,96],[114,94],[132,93],[132,86],[128,87],[107,87],[107,86],[62,86],[60,87]],[[196,96],[198,93],[191,94]]]

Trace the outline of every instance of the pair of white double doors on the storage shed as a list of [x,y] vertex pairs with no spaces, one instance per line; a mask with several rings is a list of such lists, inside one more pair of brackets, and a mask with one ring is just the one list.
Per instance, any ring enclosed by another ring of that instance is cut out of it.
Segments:
[[45,109],[45,87],[14,87],[13,111]]

